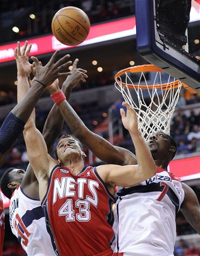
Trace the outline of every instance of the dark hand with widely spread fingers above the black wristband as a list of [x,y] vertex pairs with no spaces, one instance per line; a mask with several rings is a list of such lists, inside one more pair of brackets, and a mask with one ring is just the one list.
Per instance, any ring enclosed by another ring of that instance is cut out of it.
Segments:
[[62,73],[62,71],[65,70],[66,67],[72,64],[72,61],[66,62],[67,59],[70,57],[69,54],[65,55],[56,63],[54,63],[59,52],[60,50],[57,50],[50,58],[50,61],[44,67],[40,66],[40,62],[36,57],[31,57],[31,59],[35,62],[37,80],[41,81],[46,86],[51,85],[59,77],[71,74],[71,72]]

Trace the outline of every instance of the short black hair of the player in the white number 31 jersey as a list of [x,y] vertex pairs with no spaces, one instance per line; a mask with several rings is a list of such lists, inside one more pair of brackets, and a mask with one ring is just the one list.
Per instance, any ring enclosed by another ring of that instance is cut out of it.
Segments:
[[11,199],[11,196],[13,194],[13,189],[9,189],[8,184],[13,182],[13,180],[14,180],[12,175],[10,175],[10,172],[14,169],[16,169],[16,168],[7,169],[7,171],[3,173],[3,176],[0,180],[1,191],[9,199]]

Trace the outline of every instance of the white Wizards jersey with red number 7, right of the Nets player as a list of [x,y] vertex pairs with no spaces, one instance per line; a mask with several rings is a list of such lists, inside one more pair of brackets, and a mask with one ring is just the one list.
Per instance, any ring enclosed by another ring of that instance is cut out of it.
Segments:
[[132,187],[118,187],[114,208],[114,253],[172,256],[175,216],[184,199],[180,179],[157,167],[155,176]]

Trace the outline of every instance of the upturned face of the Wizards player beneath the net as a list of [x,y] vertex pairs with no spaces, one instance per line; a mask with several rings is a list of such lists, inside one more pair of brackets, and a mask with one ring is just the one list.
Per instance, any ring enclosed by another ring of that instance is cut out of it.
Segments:
[[169,136],[163,131],[157,131],[156,133],[150,135],[148,146],[150,148],[150,152],[166,152],[170,146],[170,138]]

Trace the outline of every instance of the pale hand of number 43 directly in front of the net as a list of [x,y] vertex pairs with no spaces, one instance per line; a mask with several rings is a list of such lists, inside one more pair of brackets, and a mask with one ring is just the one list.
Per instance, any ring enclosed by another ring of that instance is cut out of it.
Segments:
[[133,107],[128,102],[123,102],[123,106],[127,108],[127,115],[123,108],[120,108],[120,114],[122,118],[123,126],[128,131],[138,131],[138,121],[137,121],[137,114]]

